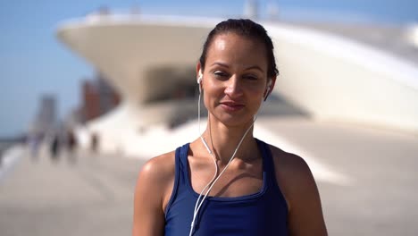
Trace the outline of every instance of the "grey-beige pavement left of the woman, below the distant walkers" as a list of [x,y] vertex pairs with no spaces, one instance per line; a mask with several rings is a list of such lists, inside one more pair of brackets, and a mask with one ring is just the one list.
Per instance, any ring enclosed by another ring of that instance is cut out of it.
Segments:
[[0,180],[0,235],[130,235],[133,190],[142,161],[27,153]]

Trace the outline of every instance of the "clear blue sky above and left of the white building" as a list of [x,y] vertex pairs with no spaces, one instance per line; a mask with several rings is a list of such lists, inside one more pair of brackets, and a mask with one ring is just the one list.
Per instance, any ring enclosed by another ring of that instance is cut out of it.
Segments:
[[[93,69],[63,46],[54,35],[60,21],[82,17],[100,6],[141,13],[233,16],[243,0],[118,0],[53,1],[0,0],[0,137],[26,131],[38,109],[38,99],[50,93],[58,99],[59,114],[79,105],[79,84]],[[265,12],[267,0],[260,0]],[[416,0],[277,0],[282,16],[290,18],[372,19],[418,21]]]

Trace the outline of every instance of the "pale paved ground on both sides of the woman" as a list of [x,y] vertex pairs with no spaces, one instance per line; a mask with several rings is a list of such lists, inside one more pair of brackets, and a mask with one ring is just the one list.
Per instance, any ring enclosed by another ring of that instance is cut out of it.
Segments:
[[[260,117],[257,123],[312,161],[330,235],[417,235],[416,135],[304,119]],[[45,150],[37,160],[25,154],[0,180],[1,236],[130,235],[144,161],[69,157],[54,162]]]

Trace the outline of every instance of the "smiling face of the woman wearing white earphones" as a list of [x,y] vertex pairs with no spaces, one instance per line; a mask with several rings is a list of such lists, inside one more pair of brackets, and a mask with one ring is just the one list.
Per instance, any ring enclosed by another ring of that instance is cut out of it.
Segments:
[[255,39],[234,33],[213,38],[202,80],[211,119],[229,126],[253,122],[266,95],[266,55],[263,44]]

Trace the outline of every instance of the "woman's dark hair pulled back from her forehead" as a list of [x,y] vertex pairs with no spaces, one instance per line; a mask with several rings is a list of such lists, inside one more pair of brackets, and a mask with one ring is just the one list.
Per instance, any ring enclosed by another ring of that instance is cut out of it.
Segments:
[[213,38],[226,33],[235,33],[239,36],[260,40],[267,52],[267,77],[272,78],[279,74],[273,53],[274,46],[272,44],[272,38],[269,37],[262,25],[248,19],[229,19],[228,21],[222,21],[209,32],[199,59],[202,70],[205,69],[207,49],[212,45]]

